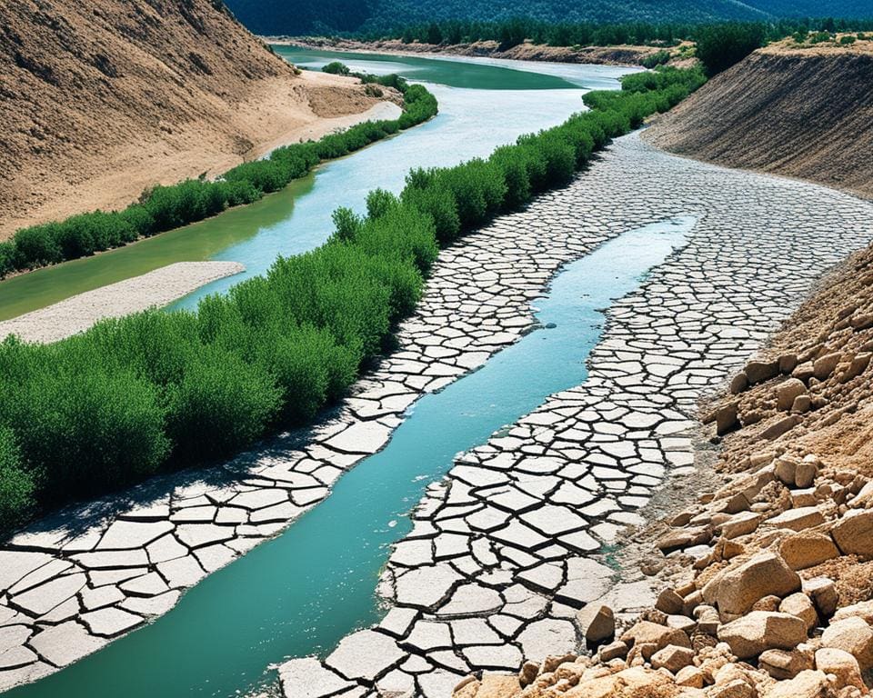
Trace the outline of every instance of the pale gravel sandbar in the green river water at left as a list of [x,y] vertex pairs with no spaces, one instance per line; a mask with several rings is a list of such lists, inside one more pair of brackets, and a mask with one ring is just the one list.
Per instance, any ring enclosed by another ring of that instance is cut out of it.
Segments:
[[42,310],[0,323],[0,341],[15,334],[24,342],[51,343],[85,332],[111,317],[163,307],[246,267],[236,262],[177,262],[154,272],[78,294]]

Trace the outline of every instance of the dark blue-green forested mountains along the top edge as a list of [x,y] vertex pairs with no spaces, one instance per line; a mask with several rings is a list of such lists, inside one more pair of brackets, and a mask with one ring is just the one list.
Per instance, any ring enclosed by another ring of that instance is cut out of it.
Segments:
[[871,0],[226,0],[262,35],[374,33],[450,19],[492,22],[712,22],[873,16]]

